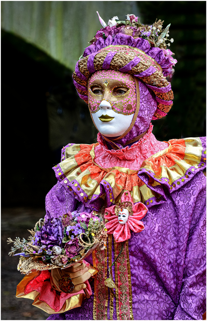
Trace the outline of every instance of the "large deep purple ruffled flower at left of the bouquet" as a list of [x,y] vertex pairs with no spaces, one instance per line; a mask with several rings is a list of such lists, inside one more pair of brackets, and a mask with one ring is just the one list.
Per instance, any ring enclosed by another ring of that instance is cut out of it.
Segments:
[[54,246],[62,246],[63,228],[61,217],[47,219],[40,231],[36,231],[34,236],[34,245],[42,245],[41,249],[45,251]]

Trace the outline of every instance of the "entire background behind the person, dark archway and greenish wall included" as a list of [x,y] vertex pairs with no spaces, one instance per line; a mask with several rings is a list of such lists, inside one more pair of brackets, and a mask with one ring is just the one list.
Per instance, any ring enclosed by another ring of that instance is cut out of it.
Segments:
[[2,320],[47,316],[31,300],[15,299],[22,275],[6,239],[26,238],[44,217],[61,148],[96,142],[72,82],[76,61],[101,28],[96,11],[106,22],[133,13],[144,24],[171,23],[175,99],[167,117],[153,121],[153,133],[165,141],[206,135],[205,1],[2,1]]

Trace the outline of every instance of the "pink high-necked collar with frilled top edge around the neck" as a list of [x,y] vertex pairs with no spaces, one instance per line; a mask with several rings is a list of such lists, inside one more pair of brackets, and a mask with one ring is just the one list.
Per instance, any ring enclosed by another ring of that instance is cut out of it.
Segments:
[[167,142],[159,142],[152,134],[153,125],[150,124],[148,132],[137,143],[126,146],[120,150],[109,150],[101,134],[98,134],[98,145],[95,146],[95,163],[102,168],[115,166],[132,170],[140,169],[142,162],[150,156],[168,148]]

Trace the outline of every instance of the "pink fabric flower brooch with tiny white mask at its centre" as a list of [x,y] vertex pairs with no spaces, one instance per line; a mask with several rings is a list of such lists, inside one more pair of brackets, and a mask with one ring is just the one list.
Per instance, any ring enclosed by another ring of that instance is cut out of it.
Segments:
[[139,221],[147,213],[148,208],[141,202],[134,204],[130,192],[126,191],[117,203],[105,209],[104,218],[108,234],[113,234],[116,242],[124,242],[131,238],[130,230],[139,233],[144,230],[143,222]]

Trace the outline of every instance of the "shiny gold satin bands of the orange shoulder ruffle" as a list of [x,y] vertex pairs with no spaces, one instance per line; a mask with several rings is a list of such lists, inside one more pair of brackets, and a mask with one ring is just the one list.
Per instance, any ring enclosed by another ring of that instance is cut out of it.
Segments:
[[[175,140],[177,143],[177,140]],[[170,143],[171,142],[171,143]],[[95,147],[99,144],[96,143],[94,145],[91,145],[91,150],[85,151],[85,153],[90,153],[91,159],[88,161],[90,163],[89,166],[98,167],[102,170],[99,178],[97,177],[97,180],[104,179],[104,181],[108,182],[110,186],[112,187],[114,202],[119,202],[121,199],[122,194],[125,192],[125,189],[123,189],[123,186],[116,183],[116,176],[122,175],[124,173],[125,175],[134,175],[139,173],[142,169],[146,169],[147,171],[151,171],[153,173],[154,178],[157,178],[157,180],[161,181],[161,178],[168,178],[169,179],[169,185],[172,185],[177,179],[182,178],[185,176],[186,171],[191,166],[196,166],[201,161],[201,155],[202,155],[202,143],[200,138],[185,138],[183,142],[185,142],[185,155],[181,155],[183,158],[176,159],[175,157],[175,165],[167,167],[166,165],[161,165],[158,169],[158,171],[154,170],[154,161],[155,159],[159,159],[160,157],[163,157],[167,153],[171,153],[173,140],[170,142],[167,142],[169,144],[169,147],[164,149],[163,151],[160,151],[154,155],[152,155],[148,160],[143,161],[141,167],[139,170],[131,170],[129,168],[123,168],[123,167],[111,167],[111,168],[102,168],[98,164],[95,163]],[[76,144],[73,146],[67,147],[66,156],[68,157],[66,160],[62,161],[60,163],[60,167],[64,173],[64,175],[67,177],[69,182],[76,179],[76,181],[79,183],[81,189],[85,191],[87,194],[87,199],[91,200],[93,195],[100,195],[100,184],[95,180],[91,178],[91,173],[89,169],[83,170],[81,172],[80,167],[78,166],[75,155],[80,151],[80,145]],[[174,153],[173,153],[174,154]],[[179,154],[178,157],[179,158]],[[85,164],[86,165],[86,164]],[[104,174],[103,174],[104,173]],[[150,175],[151,176],[151,175]],[[184,178],[185,179],[185,178]],[[151,183],[152,187],[162,185],[162,183],[159,183],[156,181],[156,179]],[[171,188],[171,187],[170,187]],[[173,187],[172,187],[173,188]],[[76,192],[77,193],[77,192]],[[159,198],[161,195],[156,193],[155,191],[151,190],[149,187],[147,187],[146,184],[141,186],[132,186],[132,190],[130,191],[132,200],[134,203],[136,202],[146,202],[152,197]],[[78,196],[78,195],[77,195]],[[106,194],[100,195],[102,199],[105,199]],[[80,201],[82,201],[80,197]],[[86,200],[87,201],[87,200]]]

